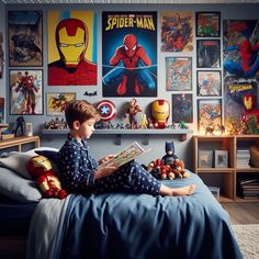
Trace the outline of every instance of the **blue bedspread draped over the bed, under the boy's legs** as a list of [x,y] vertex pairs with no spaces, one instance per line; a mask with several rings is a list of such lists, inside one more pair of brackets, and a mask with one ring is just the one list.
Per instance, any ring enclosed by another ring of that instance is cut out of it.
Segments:
[[[184,198],[147,194],[71,195],[63,224],[61,258],[88,259],[235,259],[243,258],[227,212],[201,179]],[[57,257],[56,257],[57,258]]]

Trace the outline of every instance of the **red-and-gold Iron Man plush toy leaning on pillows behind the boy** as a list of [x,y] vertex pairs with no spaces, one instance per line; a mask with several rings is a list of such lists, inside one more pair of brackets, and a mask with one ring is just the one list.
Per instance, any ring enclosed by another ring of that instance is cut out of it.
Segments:
[[36,179],[37,185],[46,198],[64,199],[67,196],[60,181],[55,176],[50,161],[44,156],[34,156],[26,164],[29,173]]

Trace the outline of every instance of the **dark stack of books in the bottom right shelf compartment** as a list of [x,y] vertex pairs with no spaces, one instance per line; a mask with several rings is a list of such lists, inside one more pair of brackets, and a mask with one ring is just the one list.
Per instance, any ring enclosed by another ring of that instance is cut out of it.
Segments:
[[243,199],[259,199],[259,179],[237,180],[237,194]]

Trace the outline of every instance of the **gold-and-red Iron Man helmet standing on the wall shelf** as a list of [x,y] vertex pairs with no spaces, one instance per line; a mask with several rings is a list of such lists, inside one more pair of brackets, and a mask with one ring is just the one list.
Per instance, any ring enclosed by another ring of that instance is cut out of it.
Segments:
[[151,103],[151,115],[155,128],[165,128],[170,113],[170,105],[167,100],[156,100]]

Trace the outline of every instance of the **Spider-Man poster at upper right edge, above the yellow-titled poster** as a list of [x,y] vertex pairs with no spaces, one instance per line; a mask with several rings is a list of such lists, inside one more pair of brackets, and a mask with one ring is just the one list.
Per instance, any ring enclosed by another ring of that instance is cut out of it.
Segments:
[[259,77],[259,20],[224,20],[224,76]]

